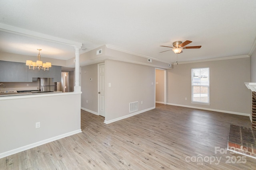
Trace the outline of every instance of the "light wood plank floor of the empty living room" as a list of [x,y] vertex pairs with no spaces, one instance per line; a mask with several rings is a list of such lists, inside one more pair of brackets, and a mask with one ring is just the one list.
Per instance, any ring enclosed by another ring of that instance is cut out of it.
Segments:
[[[238,163],[240,154],[215,153],[215,147],[227,148],[230,124],[250,127],[249,117],[156,104],[156,109],[110,124],[84,110],[81,118],[82,133],[2,158],[0,169],[256,169],[254,158]],[[200,157],[203,161],[196,162]]]

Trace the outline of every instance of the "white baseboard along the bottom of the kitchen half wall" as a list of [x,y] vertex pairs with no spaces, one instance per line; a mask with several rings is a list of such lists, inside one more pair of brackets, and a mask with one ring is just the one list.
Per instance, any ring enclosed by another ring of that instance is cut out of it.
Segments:
[[78,129],[76,131],[72,131],[72,132],[68,132],[68,133],[64,133],[62,135],[58,135],[56,137],[52,137],[52,138],[49,138],[49,139],[45,139],[43,141],[39,141],[39,142],[36,142],[36,143],[32,143],[32,144],[29,144],[29,145],[26,145],[24,147],[19,147],[17,149],[13,149],[13,150],[8,150],[6,152],[3,152],[3,153],[0,153],[0,158],[4,158],[6,156],[10,156],[12,154],[16,154],[18,152],[22,152],[24,150],[28,150],[28,149],[31,149],[31,148],[34,148],[34,147],[38,147],[40,145],[44,145],[46,143],[49,143],[49,142],[52,142],[52,141],[56,141],[58,139],[62,139],[64,137],[68,137],[68,136],[71,136],[71,135],[74,135],[76,133],[80,133],[82,132],[81,129]]

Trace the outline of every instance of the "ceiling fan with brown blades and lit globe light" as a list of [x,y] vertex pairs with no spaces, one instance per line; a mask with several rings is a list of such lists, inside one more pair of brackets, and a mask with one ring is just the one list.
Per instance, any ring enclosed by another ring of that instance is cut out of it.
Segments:
[[[202,47],[201,45],[184,47],[189,43],[192,43],[192,41],[187,40],[187,41],[184,41],[183,43],[182,41],[175,41],[174,43],[172,43],[173,47],[169,47],[169,48],[172,48],[170,50],[172,50],[174,53],[179,54],[179,53],[182,53],[183,49],[200,49]],[[168,46],[160,45],[160,47],[168,47]],[[170,50],[166,50],[166,51],[170,51]],[[166,52],[166,51],[162,51],[162,52]]]

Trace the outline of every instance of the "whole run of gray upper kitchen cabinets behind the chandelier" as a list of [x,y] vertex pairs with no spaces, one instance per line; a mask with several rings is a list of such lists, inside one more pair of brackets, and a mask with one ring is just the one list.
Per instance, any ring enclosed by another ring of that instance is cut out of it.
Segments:
[[33,78],[53,78],[54,82],[60,82],[61,66],[44,71],[28,69],[25,63],[0,61],[0,82],[32,82]]

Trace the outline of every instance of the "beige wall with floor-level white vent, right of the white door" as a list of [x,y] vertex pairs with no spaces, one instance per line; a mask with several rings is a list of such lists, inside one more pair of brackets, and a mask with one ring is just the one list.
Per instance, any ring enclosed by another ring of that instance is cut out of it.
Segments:
[[130,102],[138,101],[139,111],[155,107],[154,67],[106,60],[105,80],[105,121],[132,114]]

